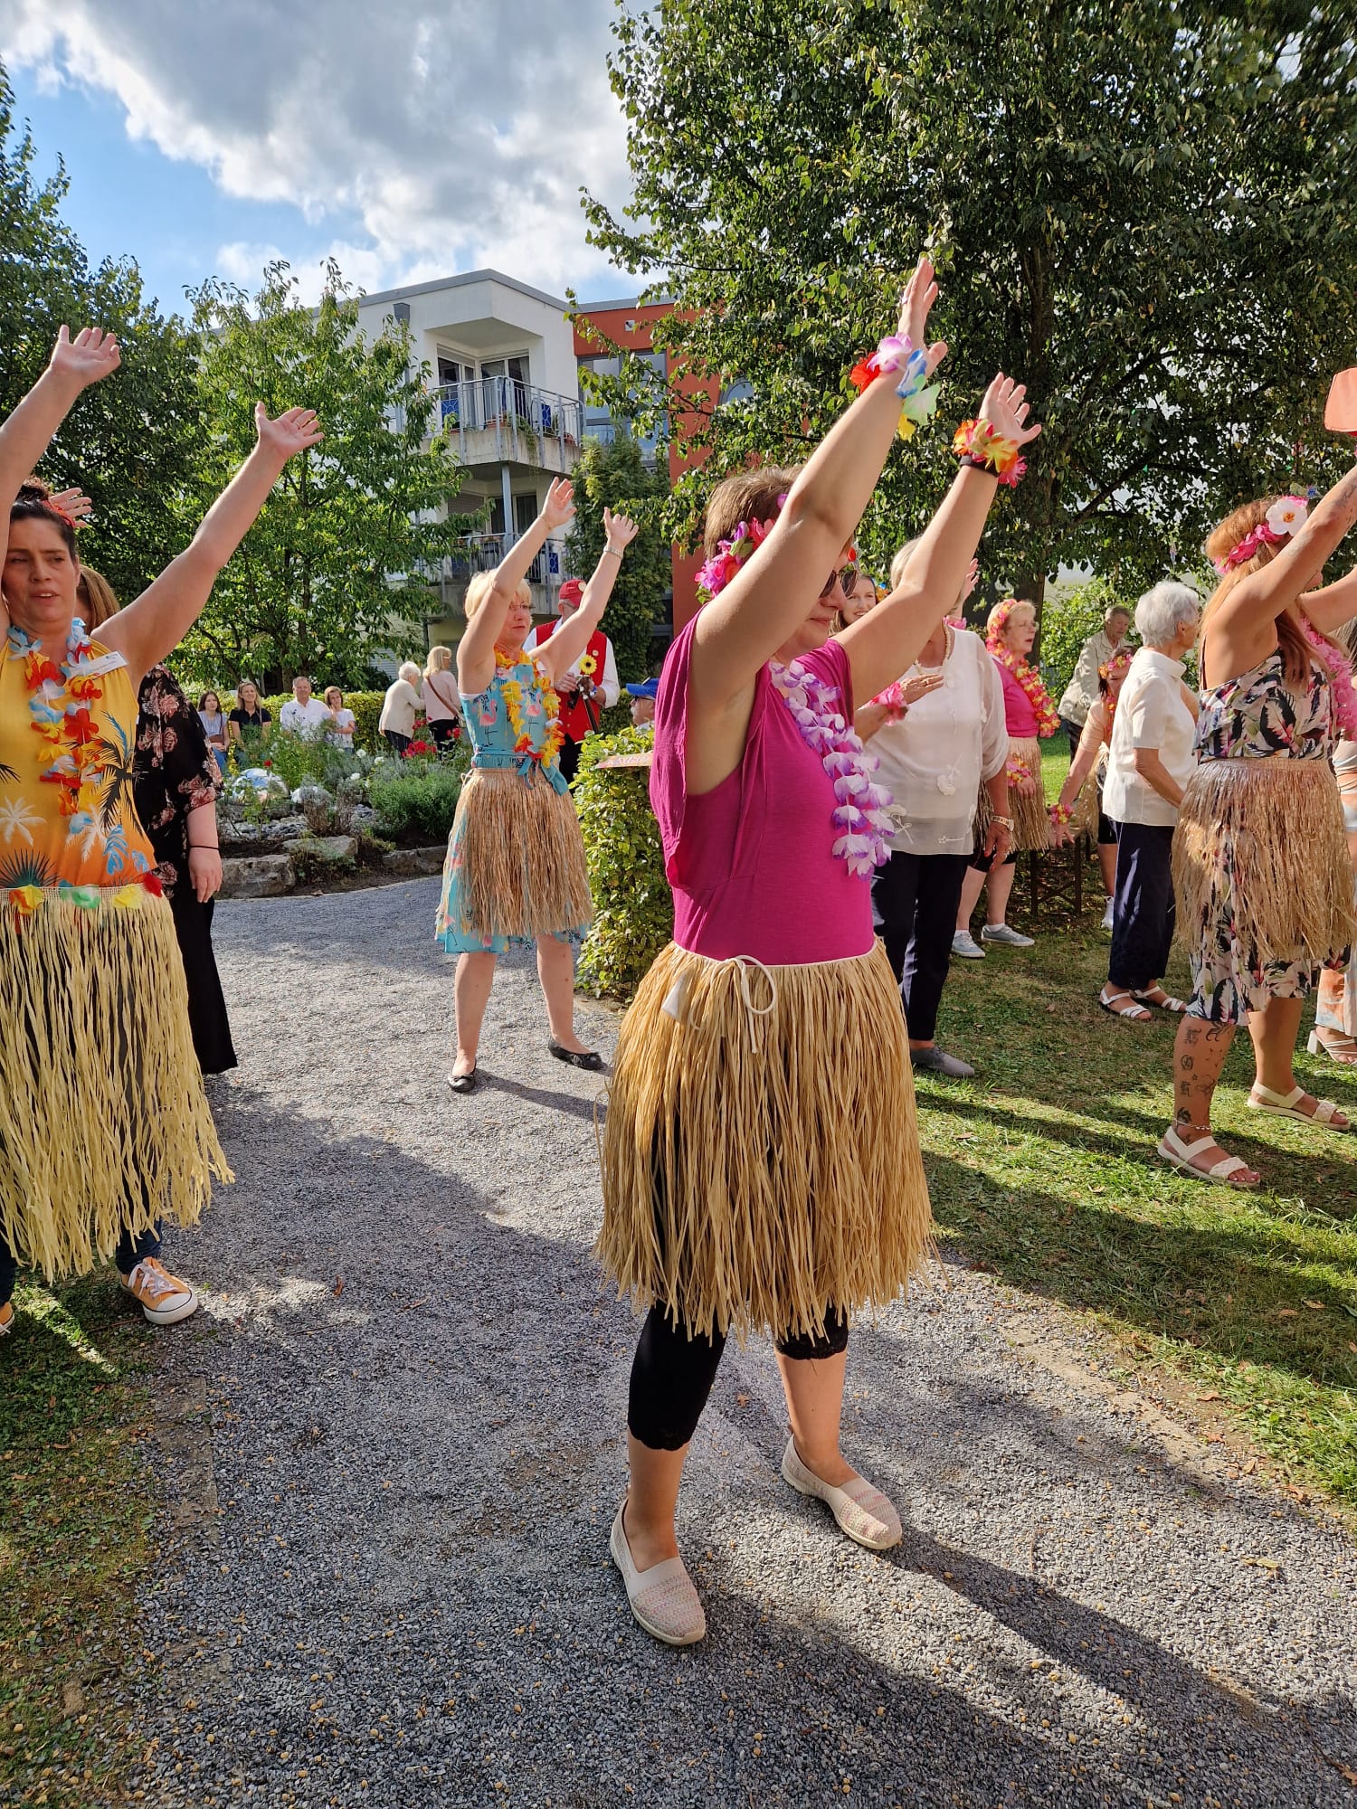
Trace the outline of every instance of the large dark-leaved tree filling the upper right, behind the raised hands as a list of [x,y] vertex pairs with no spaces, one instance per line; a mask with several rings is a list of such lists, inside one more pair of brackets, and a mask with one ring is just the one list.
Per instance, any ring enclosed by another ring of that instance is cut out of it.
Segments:
[[[1039,604],[1060,561],[1160,575],[1234,503],[1323,483],[1330,373],[1357,344],[1357,43],[1333,0],[669,0],[619,11],[631,226],[590,237],[655,279],[668,382],[713,476],[798,458],[894,326],[932,248],[952,344],[939,414],[995,369],[1046,432],[984,564]],[[747,400],[715,400],[731,378]],[[680,393],[707,384],[709,400]],[[935,507],[948,436],[892,458],[863,526],[881,566]]]

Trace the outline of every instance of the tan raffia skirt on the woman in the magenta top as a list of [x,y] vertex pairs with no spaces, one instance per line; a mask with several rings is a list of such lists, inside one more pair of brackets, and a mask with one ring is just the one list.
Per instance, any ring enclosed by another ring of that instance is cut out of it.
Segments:
[[597,1255],[693,1333],[823,1333],[930,1250],[899,990],[870,955],[760,968],[669,944],[622,1022]]

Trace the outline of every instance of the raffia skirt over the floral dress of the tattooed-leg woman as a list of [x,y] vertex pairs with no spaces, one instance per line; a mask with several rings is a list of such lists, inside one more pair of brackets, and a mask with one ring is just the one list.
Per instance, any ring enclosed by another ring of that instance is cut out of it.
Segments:
[[1257,964],[1335,961],[1353,941],[1352,861],[1326,760],[1203,760],[1172,838],[1178,932]]

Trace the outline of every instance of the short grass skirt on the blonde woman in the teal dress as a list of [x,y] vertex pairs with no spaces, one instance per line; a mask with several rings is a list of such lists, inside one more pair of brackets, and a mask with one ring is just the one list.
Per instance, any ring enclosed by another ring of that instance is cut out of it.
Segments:
[[449,953],[510,941],[577,939],[593,908],[584,839],[568,792],[534,771],[474,769],[461,787],[443,861],[436,937]]

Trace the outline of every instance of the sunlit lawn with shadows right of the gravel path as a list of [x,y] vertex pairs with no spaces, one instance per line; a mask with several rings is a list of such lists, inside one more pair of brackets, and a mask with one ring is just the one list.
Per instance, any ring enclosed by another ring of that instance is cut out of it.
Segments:
[[[1048,756],[1049,796],[1066,767]],[[1024,903],[1019,885],[1010,917],[1037,946],[955,961],[943,997],[939,1044],[979,1078],[919,1078],[943,1234],[1015,1286],[1095,1313],[1129,1364],[1219,1397],[1281,1474],[1357,1507],[1357,1136],[1247,1111],[1239,1033],[1216,1123],[1263,1185],[1230,1194],[1174,1174],[1153,1147],[1171,1118],[1174,1020],[1113,1022],[1096,1006],[1096,914],[1024,924]],[[1174,952],[1169,991],[1187,990]],[[1297,1078],[1357,1116],[1357,1075],[1301,1049]]]

